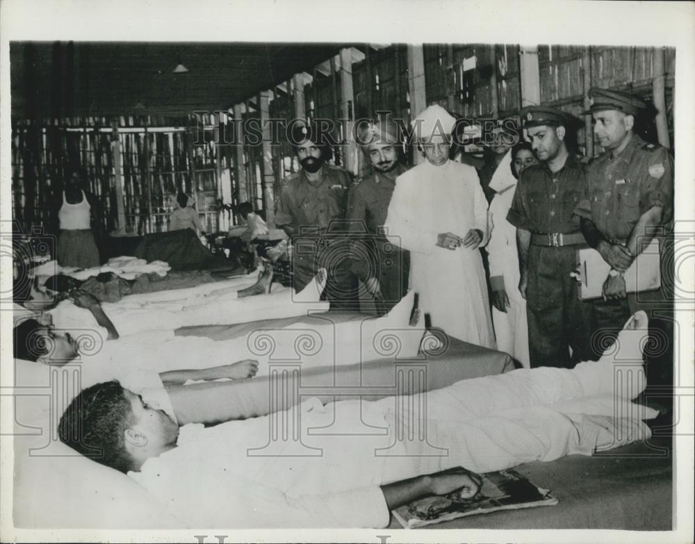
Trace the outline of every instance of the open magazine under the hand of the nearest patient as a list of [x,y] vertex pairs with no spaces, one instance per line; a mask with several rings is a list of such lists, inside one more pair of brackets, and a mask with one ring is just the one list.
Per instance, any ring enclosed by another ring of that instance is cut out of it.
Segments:
[[406,529],[415,529],[498,510],[557,504],[550,491],[535,486],[514,470],[488,472],[481,477],[480,491],[471,499],[462,499],[458,491],[448,495],[431,495],[400,506],[393,511],[393,515]]

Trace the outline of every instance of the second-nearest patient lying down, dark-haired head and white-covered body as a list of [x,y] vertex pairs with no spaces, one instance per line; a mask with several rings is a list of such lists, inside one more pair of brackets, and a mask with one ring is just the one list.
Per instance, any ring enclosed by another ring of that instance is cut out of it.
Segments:
[[[256,297],[257,298],[257,297]],[[298,360],[297,342],[309,340],[315,347],[301,354],[302,368],[352,364],[379,358],[375,351],[383,337],[398,336],[400,357],[416,356],[424,333],[420,313],[411,318],[414,292],[391,308],[382,318],[356,318],[347,322],[332,322],[322,314],[298,318],[282,329],[268,328],[272,321],[254,329],[245,327],[229,340],[211,340],[198,336],[176,336],[174,331],[149,331],[124,336],[116,342],[102,342],[90,331],[81,336],[61,333],[36,321],[26,321],[17,327],[15,357],[49,364],[79,361],[82,386],[99,381],[120,379],[140,371],[161,373],[179,368],[188,369],[190,380],[234,378],[208,372],[212,366],[226,368],[230,361],[254,360],[254,374],[268,374],[270,357]],[[248,329],[248,332],[247,332]],[[265,349],[265,338],[272,336],[272,352]],[[258,363],[260,360],[260,365]],[[195,376],[193,370],[202,375]],[[247,376],[237,376],[247,377]],[[149,381],[149,380],[147,380]]]

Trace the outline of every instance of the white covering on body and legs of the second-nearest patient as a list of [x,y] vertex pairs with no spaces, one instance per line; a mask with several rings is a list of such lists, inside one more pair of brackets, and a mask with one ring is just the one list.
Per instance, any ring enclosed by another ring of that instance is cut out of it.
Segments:
[[[398,343],[398,356],[412,358],[418,354],[424,332],[422,318],[414,327],[409,326],[413,302],[411,292],[382,318],[344,323],[325,318],[325,322],[318,320],[318,324],[314,320],[311,324],[289,324],[284,329],[259,329],[231,340],[175,336],[173,331],[124,336],[81,356],[82,387],[111,379],[123,383],[122,377],[138,370],[156,374],[229,365],[247,358],[259,361],[259,376],[268,374],[268,363],[273,361],[296,361],[303,370],[349,365],[393,355],[391,343]],[[386,342],[389,351],[384,351],[384,338],[389,338]],[[268,343],[272,343],[272,349]]]

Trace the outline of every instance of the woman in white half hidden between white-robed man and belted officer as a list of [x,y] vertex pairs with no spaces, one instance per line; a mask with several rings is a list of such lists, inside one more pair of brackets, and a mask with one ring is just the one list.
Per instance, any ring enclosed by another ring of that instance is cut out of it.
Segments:
[[512,206],[519,174],[537,162],[530,144],[518,143],[502,159],[490,181],[496,195],[490,203],[493,226],[487,252],[497,348],[526,368],[529,367],[526,301],[516,287],[519,283],[516,228],[507,222],[507,212]]

